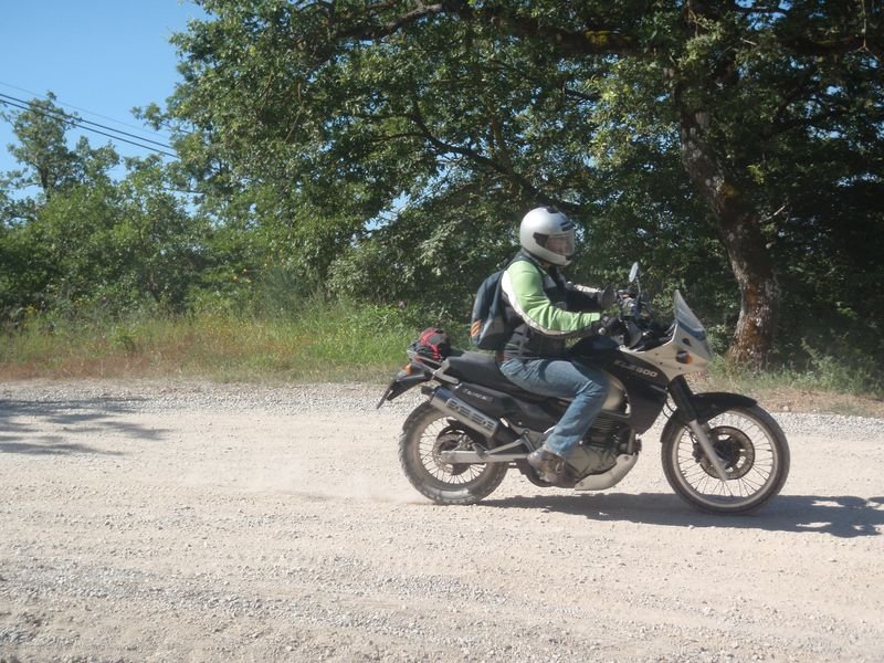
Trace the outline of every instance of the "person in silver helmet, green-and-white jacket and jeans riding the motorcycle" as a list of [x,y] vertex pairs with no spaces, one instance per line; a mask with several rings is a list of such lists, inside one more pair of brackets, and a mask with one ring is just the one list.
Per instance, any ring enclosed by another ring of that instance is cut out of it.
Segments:
[[608,392],[604,373],[568,358],[566,339],[590,334],[613,292],[565,281],[559,267],[573,257],[575,231],[558,210],[537,208],[525,214],[519,242],[522,250],[501,282],[513,328],[501,372],[532,393],[572,399],[544,445],[528,455],[532,467],[555,483]]

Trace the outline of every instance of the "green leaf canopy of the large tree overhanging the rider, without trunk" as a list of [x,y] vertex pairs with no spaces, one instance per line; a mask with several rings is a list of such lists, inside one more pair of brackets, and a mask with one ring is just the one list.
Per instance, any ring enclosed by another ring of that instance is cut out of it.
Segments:
[[[589,245],[576,274],[610,280],[639,259],[726,339],[751,315],[729,270],[744,288],[766,277],[806,221],[790,190],[843,201],[844,172],[881,146],[873,51],[856,41],[880,35],[874,7],[861,20],[818,3],[203,6],[211,18],[176,38],[186,162],[210,172],[210,197],[287,201],[256,206],[254,222],[286,269],[335,294],[466,311],[518,217],[556,203]],[[697,128],[691,149],[718,168],[705,179],[683,167]],[[865,140],[788,186],[844,130]],[[735,210],[758,227],[748,243],[723,225]],[[777,307],[769,292],[761,305]]]

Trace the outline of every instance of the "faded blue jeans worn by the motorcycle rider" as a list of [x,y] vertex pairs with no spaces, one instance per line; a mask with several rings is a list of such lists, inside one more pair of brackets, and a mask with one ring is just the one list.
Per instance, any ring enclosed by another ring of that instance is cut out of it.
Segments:
[[546,449],[567,460],[604,404],[608,377],[568,359],[507,359],[501,372],[532,393],[573,399],[544,442]]

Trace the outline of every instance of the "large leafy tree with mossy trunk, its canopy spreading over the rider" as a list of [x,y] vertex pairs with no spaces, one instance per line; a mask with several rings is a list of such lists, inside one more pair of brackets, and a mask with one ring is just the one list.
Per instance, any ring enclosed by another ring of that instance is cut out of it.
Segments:
[[[171,110],[233,180],[287,186],[329,213],[339,246],[361,236],[355,220],[402,207],[388,225],[427,231],[439,201],[476,248],[494,245],[495,217],[515,224],[538,202],[592,236],[606,217],[621,236],[665,229],[673,253],[714,236],[744,366],[767,361],[777,329],[774,250],[797,206],[777,185],[802,167],[780,159],[829,140],[845,85],[864,95],[851,124],[881,145],[882,10],[865,0],[202,4],[214,18],[177,38]],[[664,190],[674,209],[642,219],[635,201]]]

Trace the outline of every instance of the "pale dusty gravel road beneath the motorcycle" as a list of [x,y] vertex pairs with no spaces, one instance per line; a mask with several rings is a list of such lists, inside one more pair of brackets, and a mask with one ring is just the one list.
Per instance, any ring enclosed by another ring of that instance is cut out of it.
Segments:
[[884,661],[884,421],[777,413],[751,516],[683,504],[659,430],[609,491],[440,507],[381,391],[0,383],[0,662]]

